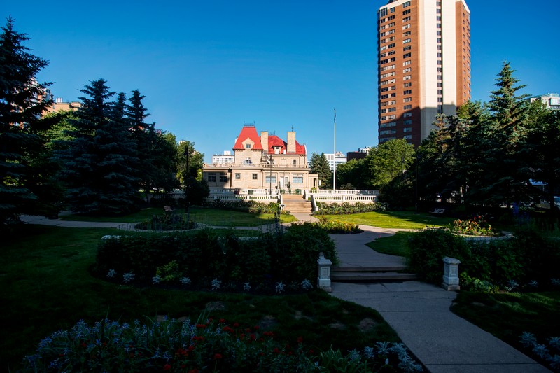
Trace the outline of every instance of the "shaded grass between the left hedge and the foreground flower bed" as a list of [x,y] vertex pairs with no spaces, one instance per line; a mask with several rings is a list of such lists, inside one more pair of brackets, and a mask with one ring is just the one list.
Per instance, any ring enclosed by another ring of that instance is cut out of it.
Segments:
[[[0,367],[15,370],[25,354],[52,332],[113,320],[146,321],[156,315],[210,316],[241,325],[261,325],[280,341],[304,337],[309,349],[349,351],[377,341],[396,342],[395,332],[372,309],[337,300],[322,291],[260,296],[137,288],[94,278],[97,244],[113,229],[24,225],[0,251]],[[360,321],[372,328],[361,328]]]

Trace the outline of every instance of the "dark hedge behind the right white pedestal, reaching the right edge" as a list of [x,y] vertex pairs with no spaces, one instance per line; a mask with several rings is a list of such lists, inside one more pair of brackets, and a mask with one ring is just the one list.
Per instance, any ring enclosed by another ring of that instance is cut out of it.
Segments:
[[[441,283],[442,259],[446,256],[461,261],[462,285],[479,286],[483,281],[489,290],[495,286],[533,281],[551,286],[558,279],[559,242],[533,230],[516,232],[511,239],[466,241],[444,228],[416,232],[408,242],[408,264],[412,272],[431,283]],[[511,287],[511,286],[510,286]]]

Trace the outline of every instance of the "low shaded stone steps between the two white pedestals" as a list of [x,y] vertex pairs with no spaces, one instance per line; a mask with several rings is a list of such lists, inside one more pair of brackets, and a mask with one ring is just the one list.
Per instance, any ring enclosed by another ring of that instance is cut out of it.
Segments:
[[406,273],[405,265],[392,267],[330,267],[330,279],[336,282],[394,282],[417,280],[416,274]]

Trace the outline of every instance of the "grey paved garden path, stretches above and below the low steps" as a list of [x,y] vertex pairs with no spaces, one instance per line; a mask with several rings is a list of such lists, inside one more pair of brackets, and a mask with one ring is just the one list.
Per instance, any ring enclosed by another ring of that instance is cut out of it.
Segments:
[[[316,221],[309,214],[293,214],[298,220]],[[29,224],[60,227],[116,227],[130,230],[129,223],[92,223],[22,216]],[[397,230],[361,225],[360,234],[337,234],[341,265],[379,267],[401,265],[404,258],[373,251],[365,246]],[[379,311],[402,342],[430,372],[540,373],[545,367],[493,335],[453,314],[449,308],[455,292],[420,281],[401,283],[332,283],[333,296]]]

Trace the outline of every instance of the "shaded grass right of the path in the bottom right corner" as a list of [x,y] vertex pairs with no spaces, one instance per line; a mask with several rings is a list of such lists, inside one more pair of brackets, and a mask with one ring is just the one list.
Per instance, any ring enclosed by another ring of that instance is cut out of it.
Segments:
[[499,294],[461,291],[451,307],[458,316],[535,360],[538,357],[524,349],[519,337],[523,332],[531,332],[541,344],[549,337],[559,337],[559,310],[559,291]]

